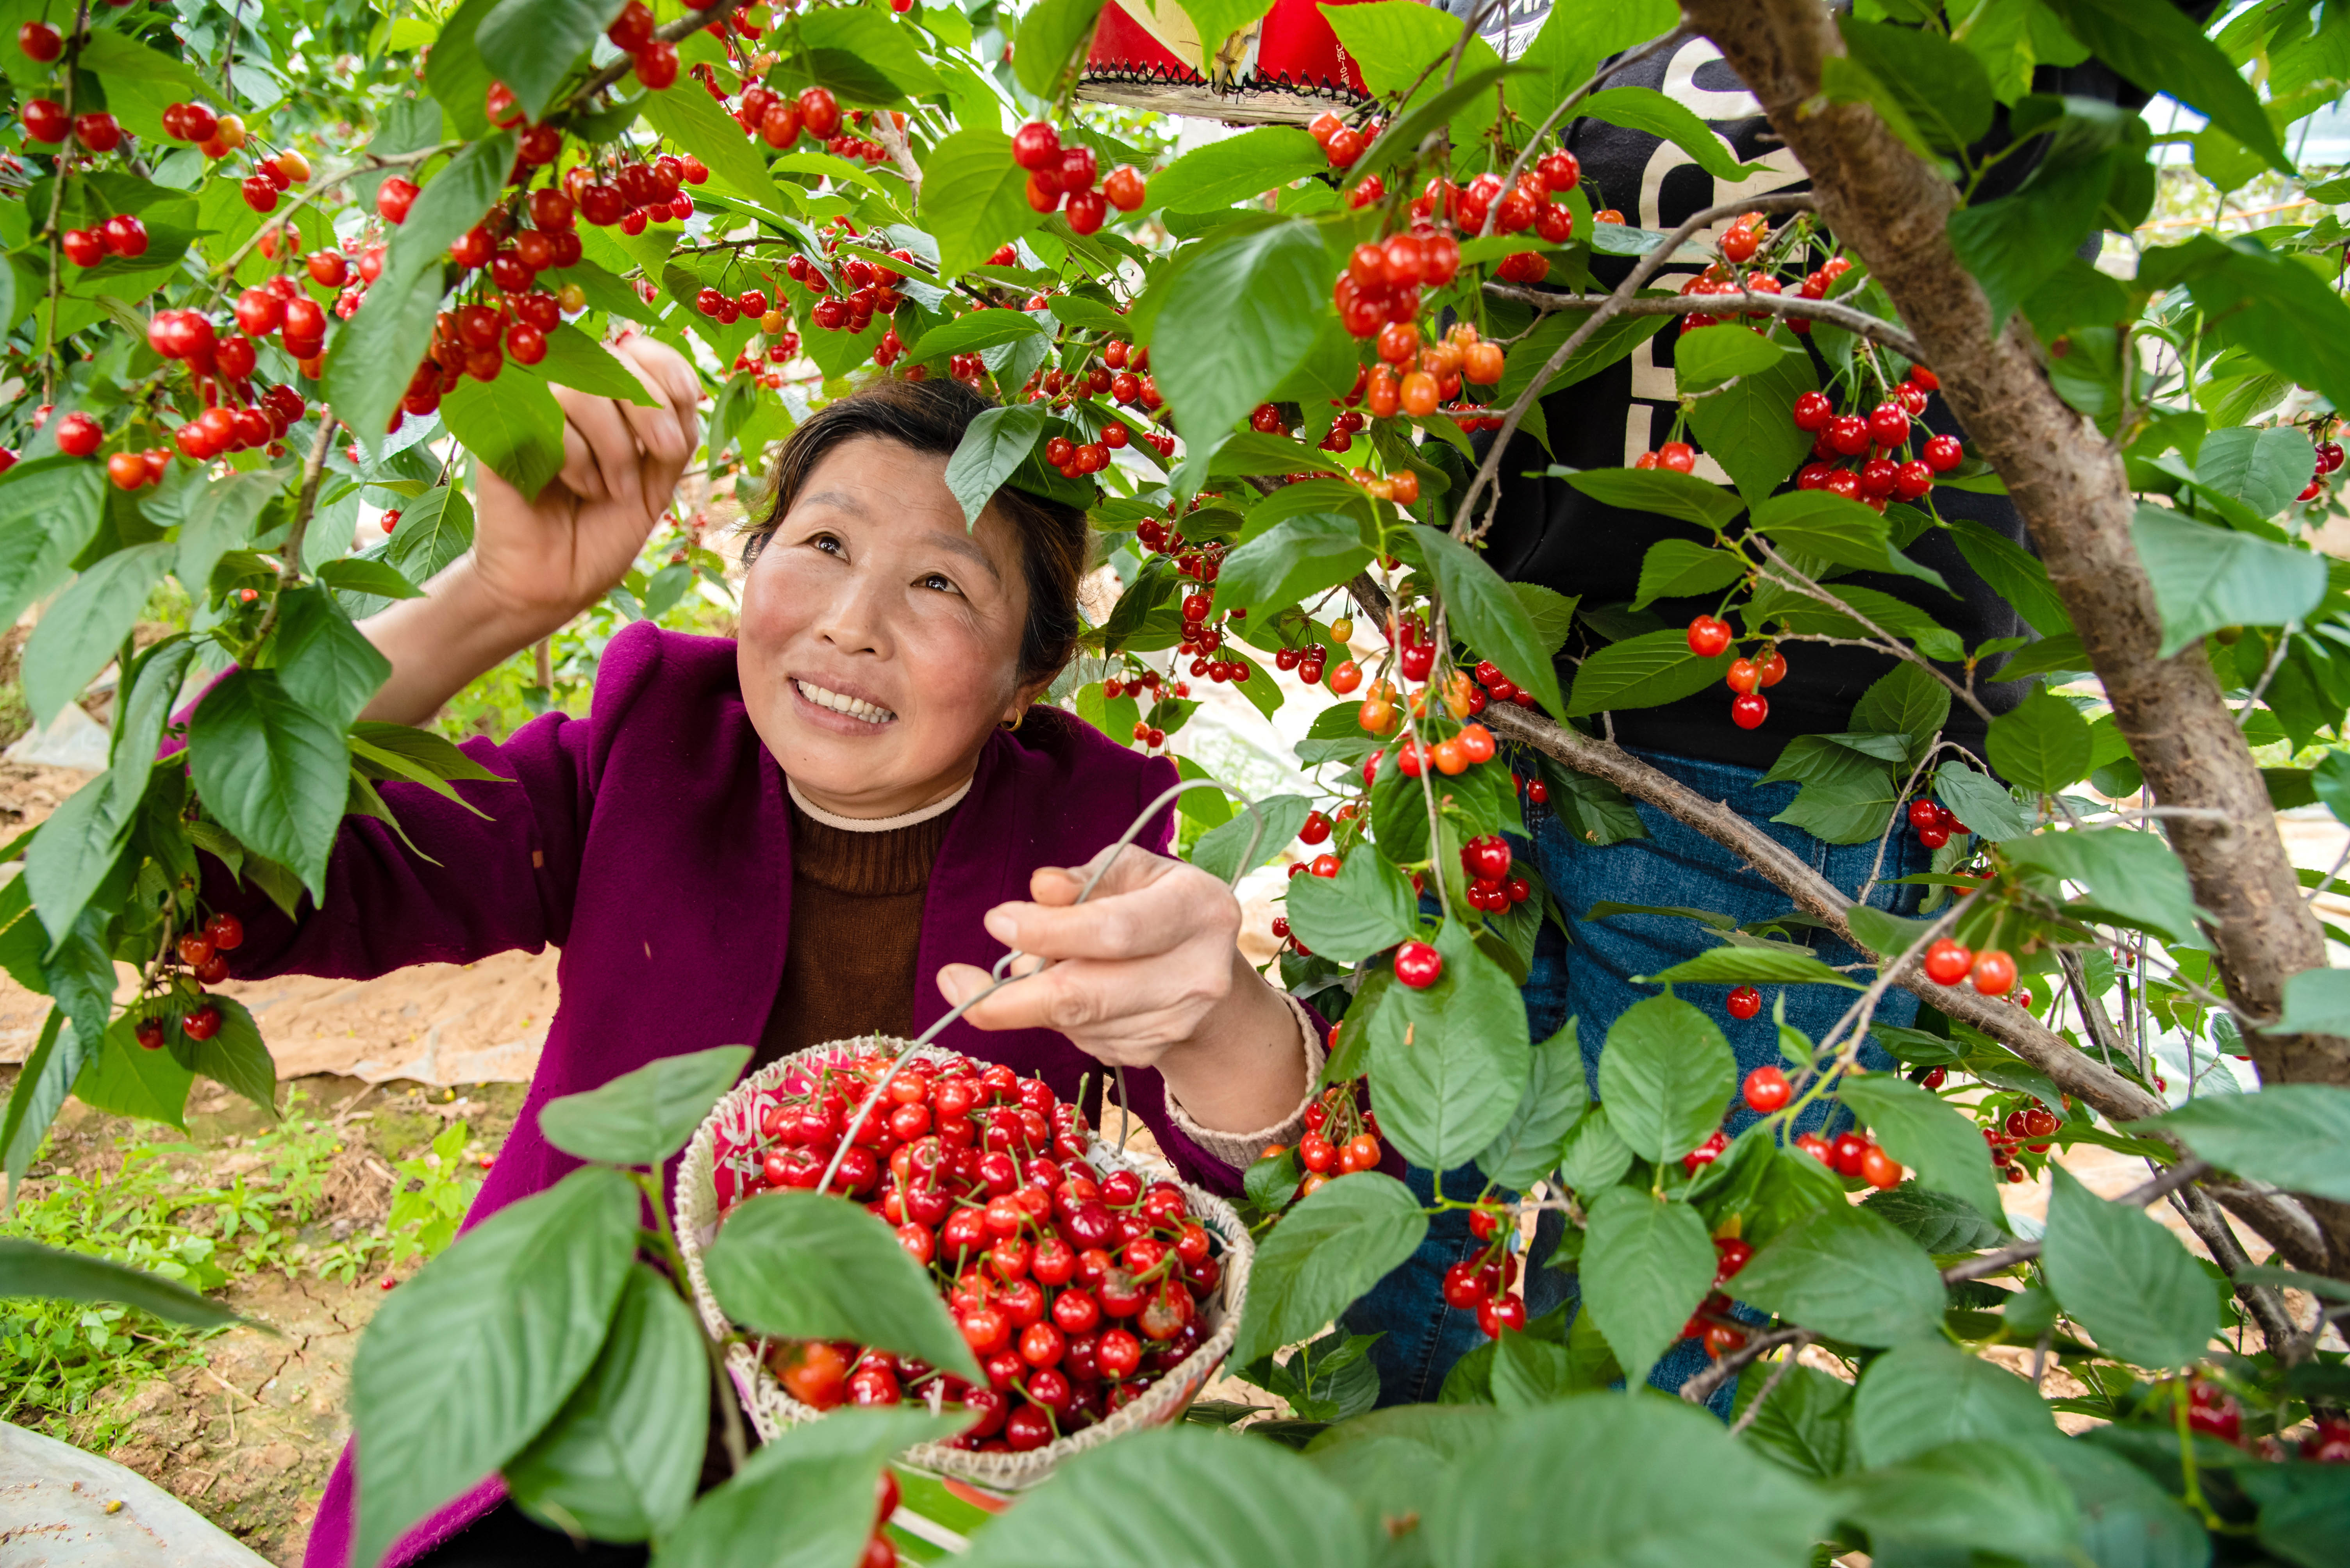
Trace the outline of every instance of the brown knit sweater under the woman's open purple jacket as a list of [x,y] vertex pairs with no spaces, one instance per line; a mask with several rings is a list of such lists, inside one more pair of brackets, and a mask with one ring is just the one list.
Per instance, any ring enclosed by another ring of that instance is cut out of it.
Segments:
[[851,1035],[912,1035],[921,901],[961,805],[905,829],[825,826],[792,800],[792,941],[759,1038],[778,1056]]

